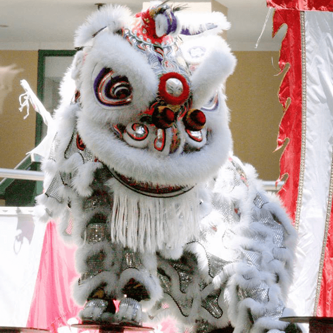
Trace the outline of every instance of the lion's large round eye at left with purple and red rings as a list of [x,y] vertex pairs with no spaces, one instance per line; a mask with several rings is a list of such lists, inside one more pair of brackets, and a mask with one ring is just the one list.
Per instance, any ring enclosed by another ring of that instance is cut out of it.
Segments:
[[132,101],[132,86],[124,76],[115,75],[110,68],[103,68],[94,81],[94,92],[106,106],[127,105]]

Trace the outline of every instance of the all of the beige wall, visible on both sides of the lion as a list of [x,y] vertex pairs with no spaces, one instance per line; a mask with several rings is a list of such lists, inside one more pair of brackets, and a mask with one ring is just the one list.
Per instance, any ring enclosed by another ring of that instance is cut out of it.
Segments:
[[[242,51],[235,55],[238,64],[226,88],[234,153],[252,164],[260,178],[275,180],[281,152],[273,151],[282,116],[277,98],[282,78],[275,76],[278,52]],[[0,67],[16,64],[16,68],[24,70],[15,76],[0,114],[0,167],[15,167],[34,146],[36,115],[30,107],[30,116],[23,120],[24,114],[18,111],[18,96],[23,92],[20,79],[27,80],[36,92],[37,58],[37,51],[0,51]]]

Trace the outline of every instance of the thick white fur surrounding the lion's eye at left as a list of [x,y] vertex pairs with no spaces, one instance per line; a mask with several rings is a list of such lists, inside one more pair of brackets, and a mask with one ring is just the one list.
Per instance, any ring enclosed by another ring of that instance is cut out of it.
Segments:
[[[133,88],[133,99],[129,106],[107,107],[97,101],[93,83],[99,71],[105,67],[129,80]],[[80,119],[85,117],[86,121],[93,121],[99,127],[105,126],[107,122],[111,124],[129,122],[138,111],[148,107],[158,89],[158,80],[147,58],[122,37],[109,34],[108,31],[102,31],[94,38],[93,47],[86,54],[81,76],[83,115]],[[83,141],[87,143],[91,141],[85,140],[86,135],[80,125],[79,131]]]

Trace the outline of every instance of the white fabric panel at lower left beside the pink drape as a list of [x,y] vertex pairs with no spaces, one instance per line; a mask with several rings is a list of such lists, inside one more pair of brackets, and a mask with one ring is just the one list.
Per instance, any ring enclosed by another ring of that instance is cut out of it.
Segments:
[[39,268],[46,224],[33,209],[0,207],[0,323],[25,327]]

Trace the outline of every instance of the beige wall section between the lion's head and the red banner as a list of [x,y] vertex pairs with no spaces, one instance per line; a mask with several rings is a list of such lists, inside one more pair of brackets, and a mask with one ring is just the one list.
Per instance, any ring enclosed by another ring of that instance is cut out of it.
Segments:
[[276,180],[282,151],[273,151],[283,112],[277,96],[282,80],[276,76],[279,52],[234,54],[238,63],[226,86],[234,154],[252,164],[261,179]]

